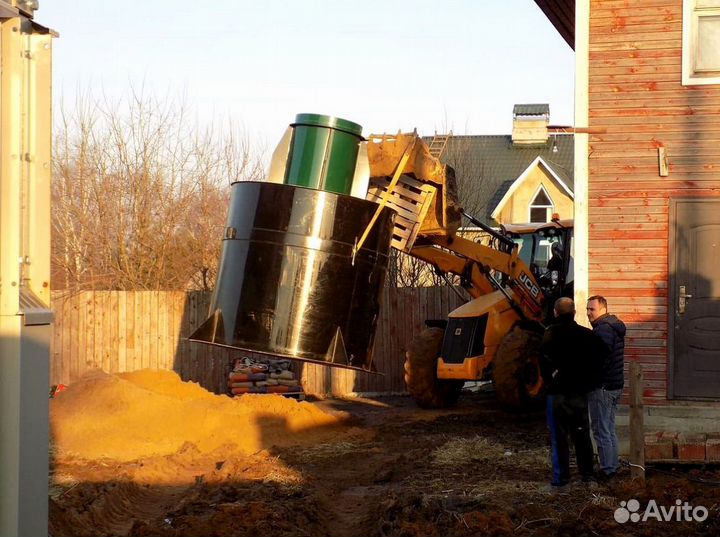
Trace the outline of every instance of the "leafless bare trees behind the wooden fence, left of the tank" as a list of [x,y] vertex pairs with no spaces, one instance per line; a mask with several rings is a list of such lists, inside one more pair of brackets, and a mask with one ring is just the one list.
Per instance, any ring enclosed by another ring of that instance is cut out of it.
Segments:
[[80,96],[58,117],[53,286],[209,289],[228,183],[263,178],[232,130],[200,129],[182,102]]

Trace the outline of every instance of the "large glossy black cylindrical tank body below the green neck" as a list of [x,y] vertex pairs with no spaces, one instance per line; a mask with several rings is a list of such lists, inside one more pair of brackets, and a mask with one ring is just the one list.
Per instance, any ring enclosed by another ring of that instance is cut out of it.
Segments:
[[395,211],[294,185],[232,185],[209,317],[190,340],[372,371]]

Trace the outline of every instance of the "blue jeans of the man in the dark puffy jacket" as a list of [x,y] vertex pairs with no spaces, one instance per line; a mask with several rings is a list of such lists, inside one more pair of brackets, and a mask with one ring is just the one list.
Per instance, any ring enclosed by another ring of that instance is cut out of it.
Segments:
[[621,395],[622,389],[606,390],[604,388],[588,394],[590,421],[598,448],[600,470],[606,475],[617,472],[620,466],[617,433],[615,432],[615,410]]

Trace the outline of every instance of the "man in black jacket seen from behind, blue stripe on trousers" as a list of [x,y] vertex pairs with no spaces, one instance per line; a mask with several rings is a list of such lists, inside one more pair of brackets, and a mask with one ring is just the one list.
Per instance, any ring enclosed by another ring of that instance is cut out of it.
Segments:
[[597,388],[607,348],[592,330],[575,322],[575,304],[563,297],[555,302],[556,323],[548,328],[540,347],[540,369],[548,388],[548,427],[552,447],[551,485],[570,481],[570,447],[575,447],[583,481],[593,477],[587,394]]

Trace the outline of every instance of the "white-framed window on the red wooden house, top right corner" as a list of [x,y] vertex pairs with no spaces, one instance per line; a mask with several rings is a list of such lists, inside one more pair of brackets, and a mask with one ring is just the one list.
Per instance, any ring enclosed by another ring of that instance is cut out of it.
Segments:
[[682,82],[720,84],[720,0],[683,0]]

